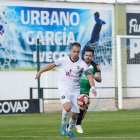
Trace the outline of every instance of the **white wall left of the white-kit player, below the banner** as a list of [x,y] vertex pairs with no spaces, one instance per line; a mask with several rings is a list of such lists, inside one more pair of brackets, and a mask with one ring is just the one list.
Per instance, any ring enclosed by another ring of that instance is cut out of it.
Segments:
[[[37,87],[36,72],[0,72],[0,100],[29,99],[29,88]],[[57,87],[58,73],[51,71],[43,73],[40,79],[41,87]],[[44,90],[46,92],[46,90]],[[34,90],[33,97],[37,97]],[[56,90],[48,90],[44,97],[58,98]]]

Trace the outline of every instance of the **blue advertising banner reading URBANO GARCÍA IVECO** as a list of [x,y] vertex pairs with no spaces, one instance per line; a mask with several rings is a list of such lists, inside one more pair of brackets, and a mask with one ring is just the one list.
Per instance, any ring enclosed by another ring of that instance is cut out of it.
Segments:
[[68,55],[70,44],[84,50],[112,37],[112,11],[76,8],[0,7],[0,70],[36,68],[36,43],[41,65]]

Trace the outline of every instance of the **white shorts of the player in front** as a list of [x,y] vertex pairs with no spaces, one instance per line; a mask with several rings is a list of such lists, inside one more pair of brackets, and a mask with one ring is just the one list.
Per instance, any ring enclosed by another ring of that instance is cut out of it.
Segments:
[[77,104],[77,98],[80,95],[80,89],[59,89],[60,101],[62,104],[69,102],[71,104],[71,112],[79,113],[79,106]]

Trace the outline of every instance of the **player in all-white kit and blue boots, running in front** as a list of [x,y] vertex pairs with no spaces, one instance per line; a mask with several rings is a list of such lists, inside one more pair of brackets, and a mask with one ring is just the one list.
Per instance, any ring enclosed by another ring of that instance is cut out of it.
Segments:
[[[36,79],[38,79],[41,76],[41,73],[49,71],[54,67],[58,68],[60,72],[58,89],[60,100],[63,105],[60,134],[62,136],[67,135],[70,138],[74,138],[72,130],[76,124],[77,114],[79,113],[77,98],[80,95],[79,80],[82,71],[85,71],[87,78],[89,79],[91,92],[96,94],[93,75],[88,71],[87,64],[79,58],[80,50],[81,45],[74,42],[71,47],[70,56],[59,58],[54,63],[48,64],[36,74]],[[66,128],[67,118],[70,112],[71,118],[69,127]]]

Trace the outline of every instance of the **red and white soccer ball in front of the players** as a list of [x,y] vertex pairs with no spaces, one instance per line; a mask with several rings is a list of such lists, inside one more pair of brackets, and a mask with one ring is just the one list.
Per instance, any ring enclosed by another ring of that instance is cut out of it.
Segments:
[[88,108],[90,103],[89,96],[87,94],[81,94],[77,98],[77,104],[79,105],[80,109],[85,110]]

